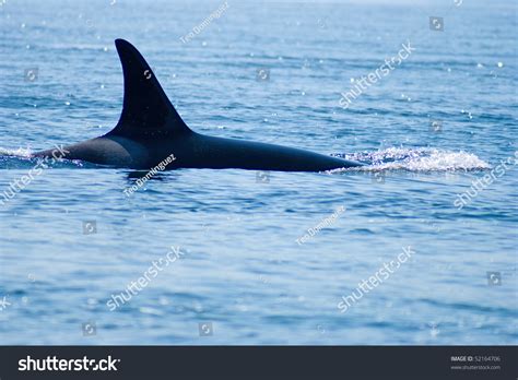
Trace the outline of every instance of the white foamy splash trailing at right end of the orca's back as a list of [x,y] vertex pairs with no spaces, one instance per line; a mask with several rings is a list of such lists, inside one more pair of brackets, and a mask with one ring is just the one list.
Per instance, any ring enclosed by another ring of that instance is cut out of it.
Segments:
[[[429,147],[389,147],[376,152],[360,152],[334,155],[358,161],[367,166],[355,168],[361,171],[409,170],[409,171],[455,171],[485,170],[491,165],[468,152],[451,152]],[[339,169],[343,170],[343,169]]]

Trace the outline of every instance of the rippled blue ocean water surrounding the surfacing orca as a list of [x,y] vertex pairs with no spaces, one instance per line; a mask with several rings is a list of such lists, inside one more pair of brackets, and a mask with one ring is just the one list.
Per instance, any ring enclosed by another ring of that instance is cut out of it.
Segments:
[[[180,39],[222,4],[0,1],[0,343],[517,344],[517,3],[228,1]],[[115,126],[119,37],[193,130],[368,166],[126,197],[145,173],[58,162],[9,195],[31,152]]]

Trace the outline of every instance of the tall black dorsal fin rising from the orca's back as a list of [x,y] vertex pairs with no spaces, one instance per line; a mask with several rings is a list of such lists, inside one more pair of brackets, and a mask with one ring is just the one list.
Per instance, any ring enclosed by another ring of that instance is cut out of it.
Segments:
[[119,122],[108,134],[151,139],[191,132],[139,50],[125,39],[116,39],[115,46],[122,63],[125,98]]

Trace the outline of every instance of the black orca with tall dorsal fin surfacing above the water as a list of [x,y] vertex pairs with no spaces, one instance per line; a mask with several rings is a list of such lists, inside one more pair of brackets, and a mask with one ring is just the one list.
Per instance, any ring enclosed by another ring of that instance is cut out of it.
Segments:
[[[64,146],[62,158],[131,169],[151,169],[170,155],[175,159],[165,169],[326,171],[363,165],[299,149],[197,133],[181,120],[141,54],[123,39],[115,45],[125,78],[120,120],[103,136]],[[56,150],[34,156],[52,154]]]

